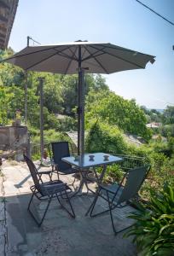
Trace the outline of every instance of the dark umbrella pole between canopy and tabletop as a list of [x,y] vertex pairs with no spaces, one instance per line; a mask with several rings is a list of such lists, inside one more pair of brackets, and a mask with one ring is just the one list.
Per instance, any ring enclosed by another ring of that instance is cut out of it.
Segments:
[[78,72],[78,155],[84,154],[84,70]]

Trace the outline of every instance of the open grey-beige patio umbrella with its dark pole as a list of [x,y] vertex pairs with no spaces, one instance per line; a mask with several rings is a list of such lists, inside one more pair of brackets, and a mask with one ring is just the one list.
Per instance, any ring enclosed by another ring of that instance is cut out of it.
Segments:
[[116,73],[145,68],[153,55],[114,44],[77,41],[67,44],[28,46],[5,61],[26,71],[78,73],[78,154],[84,154],[84,73]]

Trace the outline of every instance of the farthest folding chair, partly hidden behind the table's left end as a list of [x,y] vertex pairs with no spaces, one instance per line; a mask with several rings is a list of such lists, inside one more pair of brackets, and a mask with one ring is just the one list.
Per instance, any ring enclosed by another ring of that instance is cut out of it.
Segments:
[[[59,175],[68,175],[79,173],[79,170],[62,161],[62,157],[70,156],[69,143],[68,142],[55,142],[50,143],[52,148],[52,169],[53,172],[57,173],[57,177],[59,179]],[[73,180],[73,183],[75,178]],[[73,183],[71,185],[73,185]]]

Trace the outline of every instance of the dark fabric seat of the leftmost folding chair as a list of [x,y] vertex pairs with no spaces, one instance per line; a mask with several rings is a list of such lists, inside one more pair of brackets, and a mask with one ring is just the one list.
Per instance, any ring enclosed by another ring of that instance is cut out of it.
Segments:
[[57,193],[61,193],[66,190],[72,191],[72,189],[70,189],[66,183],[61,182],[61,180],[53,181],[51,183],[42,183],[42,184],[40,184],[39,187],[40,187],[39,192],[43,196],[55,195]]

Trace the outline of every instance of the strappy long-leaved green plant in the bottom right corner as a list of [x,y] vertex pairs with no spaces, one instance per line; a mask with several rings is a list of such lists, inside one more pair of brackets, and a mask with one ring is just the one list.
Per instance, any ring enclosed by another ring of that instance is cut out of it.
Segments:
[[134,236],[140,255],[174,254],[174,188],[165,184],[160,193],[151,192],[148,205],[138,204],[130,215],[136,223],[125,236]]

